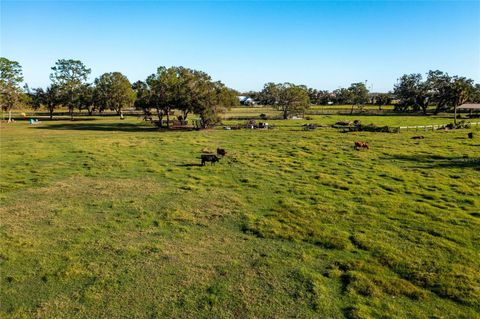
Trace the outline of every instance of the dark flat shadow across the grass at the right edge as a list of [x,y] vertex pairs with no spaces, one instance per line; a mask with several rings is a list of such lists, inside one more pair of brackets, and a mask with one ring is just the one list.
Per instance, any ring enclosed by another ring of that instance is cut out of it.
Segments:
[[480,170],[480,157],[393,155],[388,159],[415,163],[418,164],[415,166],[417,168],[475,168]]

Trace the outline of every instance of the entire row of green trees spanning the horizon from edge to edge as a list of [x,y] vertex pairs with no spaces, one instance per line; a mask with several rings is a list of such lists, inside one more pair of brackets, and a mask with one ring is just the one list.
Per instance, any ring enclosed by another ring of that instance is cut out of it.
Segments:
[[[220,121],[225,109],[237,105],[238,92],[220,81],[213,81],[205,72],[184,67],[159,67],[144,81],[130,83],[120,72],[105,73],[88,83],[91,69],[81,61],[60,59],[51,68],[51,84],[30,89],[23,82],[22,67],[16,61],[0,58],[0,103],[9,113],[18,106],[45,108],[50,118],[59,107],[66,107],[73,119],[75,110],[88,114],[115,111],[123,118],[123,111],[135,107],[145,115],[158,118],[159,126],[170,127],[174,110],[181,112],[176,120],[185,123],[189,114],[200,118],[200,125],[208,127]],[[348,104],[362,108],[365,104],[394,104],[397,112],[435,113],[450,111],[465,102],[480,102],[480,84],[461,76],[450,76],[436,70],[401,76],[388,93],[370,93],[366,83],[352,83],[348,88],[333,91],[317,90],[293,83],[266,83],[261,91],[245,93],[259,104],[281,111],[283,118],[302,114],[312,104]]]

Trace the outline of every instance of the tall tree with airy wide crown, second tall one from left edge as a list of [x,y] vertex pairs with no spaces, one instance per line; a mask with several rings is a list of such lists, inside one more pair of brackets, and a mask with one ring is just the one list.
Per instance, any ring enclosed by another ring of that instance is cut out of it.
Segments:
[[91,70],[79,60],[60,59],[52,67],[52,71],[50,79],[58,88],[62,104],[68,107],[70,119],[73,120],[73,110],[79,106],[82,86]]

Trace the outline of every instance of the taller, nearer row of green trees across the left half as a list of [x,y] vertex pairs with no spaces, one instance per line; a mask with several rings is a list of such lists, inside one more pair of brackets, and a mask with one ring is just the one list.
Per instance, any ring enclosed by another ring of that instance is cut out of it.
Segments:
[[115,111],[123,118],[123,111],[135,107],[146,115],[155,114],[159,126],[164,119],[170,127],[173,110],[182,115],[177,119],[187,121],[195,113],[199,125],[208,127],[220,121],[220,114],[238,104],[237,92],[220,81],[213,81],[202,71],[184,67],[159,67],[145,81],[130,83],[120,72],[104,73],[93,83],[88,83],[91,69],[79,60],[58,60],[52,67],[51,84],[46,88],[21,87],[22,68],[16,61],[0,59],[1,105],[9,112],[17,105],[30,105],[35,110],[45,108],[50,118],[59,107],[66,107],[73,119],[75,110],[88,114]]

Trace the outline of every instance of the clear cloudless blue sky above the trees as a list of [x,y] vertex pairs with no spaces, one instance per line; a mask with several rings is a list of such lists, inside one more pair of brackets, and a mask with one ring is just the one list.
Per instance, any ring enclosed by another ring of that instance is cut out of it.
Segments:
[[90,80],[200,69],[238,90],[293,82],[333,90],[440,69],[480,82],[480,1],[1,1],[1,55],[31,87],[60,58]]

